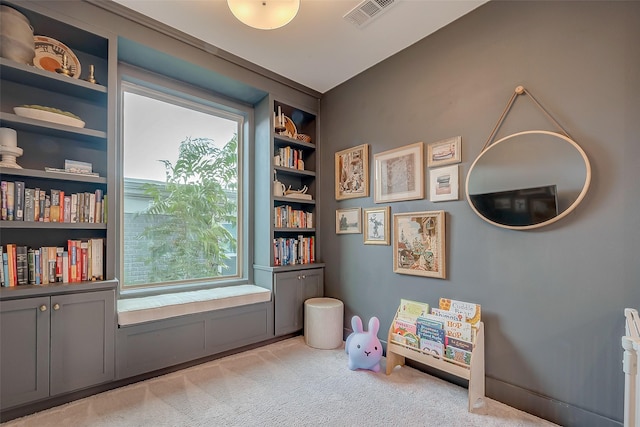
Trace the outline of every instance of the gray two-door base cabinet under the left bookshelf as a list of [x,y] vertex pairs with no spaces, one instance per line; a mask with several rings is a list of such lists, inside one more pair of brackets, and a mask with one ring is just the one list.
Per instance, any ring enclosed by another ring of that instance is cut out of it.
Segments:
[[2,409],[114,379],[115,286],[0,301]]

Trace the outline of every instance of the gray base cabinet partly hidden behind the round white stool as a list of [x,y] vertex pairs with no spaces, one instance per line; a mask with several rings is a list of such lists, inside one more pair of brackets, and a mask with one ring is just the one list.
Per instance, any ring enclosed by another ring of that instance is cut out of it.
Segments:
[[304,302],[323,295],[324,270],[288,271],[274,274],[275,334],[299,331],[304,325]]

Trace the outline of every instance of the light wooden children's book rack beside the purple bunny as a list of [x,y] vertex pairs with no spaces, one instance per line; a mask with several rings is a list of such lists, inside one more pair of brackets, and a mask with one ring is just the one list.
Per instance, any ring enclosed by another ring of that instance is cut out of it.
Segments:
[[[396,314],[397,317],[397,314]],[[415,360],[423,365],[433,367],[440,371],[454,375],[469,381],[469,412],[486,414],[486,402],[484,396],[484,323],[478,322],[474,329],[474,346],[471,354],[471,363],[464,363],[426,353],[415,347],[393,341],[393,325],[389,328],[387,339],[387,375],[390,375],[396,366],[404,366],[405,359]]]

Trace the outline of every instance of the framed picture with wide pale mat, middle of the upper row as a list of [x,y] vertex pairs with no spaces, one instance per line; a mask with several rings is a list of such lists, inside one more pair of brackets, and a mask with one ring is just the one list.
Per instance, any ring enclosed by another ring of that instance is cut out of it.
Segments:
[[423,146],[417,142],[374,156],[376,203],[424,198]]

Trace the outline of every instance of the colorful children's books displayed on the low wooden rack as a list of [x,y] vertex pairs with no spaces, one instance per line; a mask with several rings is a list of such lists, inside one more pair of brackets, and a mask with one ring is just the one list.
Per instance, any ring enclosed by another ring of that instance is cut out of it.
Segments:
[[438,308],[429,309],[427,303],[403,299],[391,340],[470,365],[480,315],[479,304],[440,298]]

